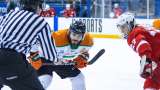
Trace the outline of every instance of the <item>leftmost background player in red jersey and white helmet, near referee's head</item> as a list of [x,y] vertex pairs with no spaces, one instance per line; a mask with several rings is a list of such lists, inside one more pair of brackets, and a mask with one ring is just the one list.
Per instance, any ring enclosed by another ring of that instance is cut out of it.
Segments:
[[42,17],[56,17],[57,14],[56,14],[54,8],[50,8],[50,6],[47,4],[46,10],[42,11],[41,16]]

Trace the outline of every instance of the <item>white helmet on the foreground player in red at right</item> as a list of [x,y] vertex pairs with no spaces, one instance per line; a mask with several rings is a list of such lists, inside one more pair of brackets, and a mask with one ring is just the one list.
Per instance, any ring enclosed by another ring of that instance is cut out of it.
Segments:
[[[129,13],[129,12],[125,12],[122,15],[120,15],[117,19],[117,28],[118,30],[121,32],[120,30],[120,26],[126,24],[129,28],[129,32],[131,32],[135,26],[136,26],[136,21],[135,18],[133,16],[133,14]],[[123,35],[123,33],[121,32],[121,38],[127,39],[128,35]]]

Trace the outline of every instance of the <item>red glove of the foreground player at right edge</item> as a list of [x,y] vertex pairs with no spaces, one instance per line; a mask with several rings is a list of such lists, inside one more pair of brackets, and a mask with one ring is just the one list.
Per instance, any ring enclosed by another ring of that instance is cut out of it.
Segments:
[[151,79],[152,78],[152,61],[149,58],[146,58],[146,61],[141,60],[141,64],[144,63],[144,67],[141,65],[141,69],[143,72],[140,76],[144,79]]

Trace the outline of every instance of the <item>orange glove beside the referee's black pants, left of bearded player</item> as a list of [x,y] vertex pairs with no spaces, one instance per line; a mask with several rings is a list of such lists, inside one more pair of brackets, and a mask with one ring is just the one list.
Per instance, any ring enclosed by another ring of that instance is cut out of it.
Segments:
[[28,57],[28,59],[31,61],[31,65],[38,70],[42,66],[42,61],[39,56],[39,51],[37,51],[35,54],[33,54],[31,57]]

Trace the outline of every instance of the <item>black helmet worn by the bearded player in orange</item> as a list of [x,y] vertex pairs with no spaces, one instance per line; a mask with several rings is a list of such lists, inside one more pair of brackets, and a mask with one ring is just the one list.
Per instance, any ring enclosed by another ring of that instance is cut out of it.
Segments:
[[74,32],[76,34],[82,34],[82,40],[84,40],[86,33],[86,25],[82,21],[76,20],[70,24],[67,34],[70,35],[71,32]]

